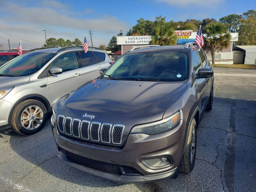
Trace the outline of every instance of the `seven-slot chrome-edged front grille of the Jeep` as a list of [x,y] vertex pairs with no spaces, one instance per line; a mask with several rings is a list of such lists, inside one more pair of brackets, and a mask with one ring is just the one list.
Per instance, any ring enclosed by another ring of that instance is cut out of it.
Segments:
[[90,122],[71,117],[58,116],[58,129],[60,132],[81,140],[91,140],[103,143],[121,144],[124,125]]

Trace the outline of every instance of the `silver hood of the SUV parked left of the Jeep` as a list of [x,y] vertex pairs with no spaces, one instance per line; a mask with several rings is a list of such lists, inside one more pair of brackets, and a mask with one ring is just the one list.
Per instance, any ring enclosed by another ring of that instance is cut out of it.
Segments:
[[27,83],[29,79],[30,79],[30,76],[21,76],[21,77],[0,76],[0,89],[14,87],[20,84]]

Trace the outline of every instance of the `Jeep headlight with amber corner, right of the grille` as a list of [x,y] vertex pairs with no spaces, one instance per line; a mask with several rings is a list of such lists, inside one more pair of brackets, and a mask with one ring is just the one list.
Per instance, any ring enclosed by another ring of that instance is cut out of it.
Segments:
[[164,118],[161,121],[154,123],[137,125],[132,128],[130,134],[144,133],[147,135],[155,135],[164,133],[174,129],[180,123],[180,111],[176,112],[172,116]]

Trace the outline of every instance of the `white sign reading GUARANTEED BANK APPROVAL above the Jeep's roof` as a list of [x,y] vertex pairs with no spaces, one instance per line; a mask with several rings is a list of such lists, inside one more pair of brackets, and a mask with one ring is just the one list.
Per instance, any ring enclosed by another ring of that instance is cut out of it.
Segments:
[[118,45],[143,45],[149,44],[152,40],[150,35],[148,36],[117,36],[116,37]]

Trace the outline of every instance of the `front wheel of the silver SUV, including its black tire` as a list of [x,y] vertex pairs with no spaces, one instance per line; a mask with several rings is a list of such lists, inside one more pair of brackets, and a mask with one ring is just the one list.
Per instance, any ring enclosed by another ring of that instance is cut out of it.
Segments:
[[12,130],[21,135],[32,135],[42,129],[46,119],[47,109],[42,102],[33,99],[25,100],[20,102],[13,111]]

